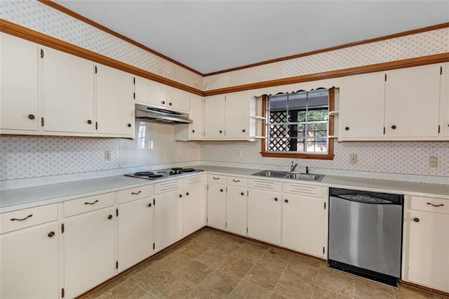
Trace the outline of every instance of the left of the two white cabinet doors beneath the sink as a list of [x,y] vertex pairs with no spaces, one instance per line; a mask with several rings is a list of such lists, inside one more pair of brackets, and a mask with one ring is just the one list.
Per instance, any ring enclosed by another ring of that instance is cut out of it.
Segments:
[[281,206],[279,192],[249,190],[248,237],[281,244]]

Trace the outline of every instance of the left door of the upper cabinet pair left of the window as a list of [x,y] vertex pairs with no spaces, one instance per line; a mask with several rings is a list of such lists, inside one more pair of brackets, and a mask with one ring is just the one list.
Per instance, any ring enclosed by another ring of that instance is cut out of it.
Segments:
[[225,138],[225,95],[204,101],[204,137]]

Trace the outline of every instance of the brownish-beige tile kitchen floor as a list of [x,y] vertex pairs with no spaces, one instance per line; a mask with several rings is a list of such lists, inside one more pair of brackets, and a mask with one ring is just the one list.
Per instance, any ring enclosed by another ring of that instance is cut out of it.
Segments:
[[327,264],[203,228],[82,298],[431,298]]

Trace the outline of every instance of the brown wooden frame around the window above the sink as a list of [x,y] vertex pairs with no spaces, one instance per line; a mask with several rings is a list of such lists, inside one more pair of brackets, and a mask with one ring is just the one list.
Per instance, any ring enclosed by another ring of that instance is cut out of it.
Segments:
[[[326,88],[327,89],[327,88]],[[329,90],[329,112],[335,109],[335,87],[328,88]],[[267,152],[267,123],[269,121],[268,111],[268,95],[262,95],[262,112],[264,112],[264,123],[262,126],[262,150],[260,154],[262,157],[276,157],[276,158],[293,158],[293,159],[317,159],[317,160],[333,160],[334,159],[334,139],[328,138],[328,154],[312,154],[307,152]],[[333,115],[328,118],[328,135],[334,135],[335,121]]]

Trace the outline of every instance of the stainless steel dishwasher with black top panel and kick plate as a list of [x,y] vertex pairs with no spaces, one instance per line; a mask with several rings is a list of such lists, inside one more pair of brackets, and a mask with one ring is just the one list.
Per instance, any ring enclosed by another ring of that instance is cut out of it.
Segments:
[[396,286],[403,195],[330,188],[329,267]]

